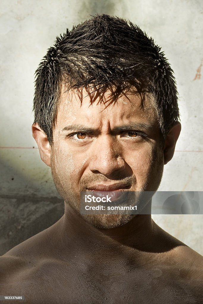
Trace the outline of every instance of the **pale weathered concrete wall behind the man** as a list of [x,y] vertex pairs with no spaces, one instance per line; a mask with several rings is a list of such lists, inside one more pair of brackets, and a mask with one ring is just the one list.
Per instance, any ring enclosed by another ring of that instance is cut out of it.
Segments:
[[[1,4],[1,252],[53,224],[63,214],[50,168],[31,135],[33,74],[66,27],[95,13],[137,23],[166,52],[180,93],[182,132],[160,190],[202,190],[203,5],[200,0],[2,1]],[[202,216],[153,216],[202,252]]]

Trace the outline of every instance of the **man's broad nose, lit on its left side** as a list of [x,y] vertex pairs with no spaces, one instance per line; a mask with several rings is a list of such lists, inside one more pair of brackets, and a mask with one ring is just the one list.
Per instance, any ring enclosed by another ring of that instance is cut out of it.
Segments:
[[125,161],[119,148],[117,141],[111,136],[103,135],[97,138],[90,155],[90,171],[109,176],[114,171],[124,170]]

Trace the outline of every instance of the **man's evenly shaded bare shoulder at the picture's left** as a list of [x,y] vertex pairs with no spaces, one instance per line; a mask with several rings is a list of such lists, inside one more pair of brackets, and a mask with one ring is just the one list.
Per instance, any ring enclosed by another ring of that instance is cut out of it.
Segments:
[[41,273],[45,266],[49,269],[53,264],[48,246],[50,235],[49,230],[44,230],[0,257],[0,294],[24,295],[26,303],[38,303]]

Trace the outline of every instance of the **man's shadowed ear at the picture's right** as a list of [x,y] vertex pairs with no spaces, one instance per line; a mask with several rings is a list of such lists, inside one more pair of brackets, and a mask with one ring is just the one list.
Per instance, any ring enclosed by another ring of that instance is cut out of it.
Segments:
[[166,136],[163,155],[164,155],[164,164],[167,164],[173,157],[176,142],[180,135],[181,124],[177,121],[173,127],[169,130],[168,135]]

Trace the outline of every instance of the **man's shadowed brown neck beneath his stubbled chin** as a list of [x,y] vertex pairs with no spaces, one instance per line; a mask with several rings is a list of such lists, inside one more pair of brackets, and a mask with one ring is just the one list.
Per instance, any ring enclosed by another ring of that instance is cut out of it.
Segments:
[[[151,208],[151,204],[150,204]],[[149,213],[149,212],[148,212]],[[88,219],[88,218],[87,218]],[[151,214],[136,215],[128,223],[110,229],[92,226],[65,203],[65,214],[58,222],[58,236],[65,248],[75,246],[97,250],[117,250],[118,247],[133,248],[139,252],[149,251],[153,239],[154,223]]]

